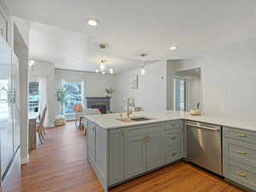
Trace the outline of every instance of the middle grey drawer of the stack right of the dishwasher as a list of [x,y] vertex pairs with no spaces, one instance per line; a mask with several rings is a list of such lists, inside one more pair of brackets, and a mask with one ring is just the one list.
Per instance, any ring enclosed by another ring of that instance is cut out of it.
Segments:
[[223,137],[223,156],[256,168],[256,144]]

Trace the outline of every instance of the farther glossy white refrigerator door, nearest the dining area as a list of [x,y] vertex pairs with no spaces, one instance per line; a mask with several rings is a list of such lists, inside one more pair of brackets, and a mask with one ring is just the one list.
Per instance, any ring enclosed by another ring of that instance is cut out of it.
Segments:
[[13,98],[13,122],[14,122],[14,153],[21,144],[21,127],[20,127],[20,73],[19,59],[13,53],[12,55],[12,88]]

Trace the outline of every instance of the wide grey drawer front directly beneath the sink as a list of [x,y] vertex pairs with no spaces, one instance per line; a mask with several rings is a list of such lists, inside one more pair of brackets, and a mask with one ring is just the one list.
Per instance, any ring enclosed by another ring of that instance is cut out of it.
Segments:
[[148,133],[164,131],[164,123],[163,124],[150,124],[150,125],[140,125],[134,126],[124,129],[125,137],[134,137],[146,135]]

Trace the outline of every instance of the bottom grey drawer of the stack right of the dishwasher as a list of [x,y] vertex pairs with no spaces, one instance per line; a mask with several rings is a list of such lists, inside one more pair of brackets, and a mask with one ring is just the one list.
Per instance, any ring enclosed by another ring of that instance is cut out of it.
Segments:
[[230,158],[223,158],[223,176],[248,189],[256,190],[256,168],[239,163]]

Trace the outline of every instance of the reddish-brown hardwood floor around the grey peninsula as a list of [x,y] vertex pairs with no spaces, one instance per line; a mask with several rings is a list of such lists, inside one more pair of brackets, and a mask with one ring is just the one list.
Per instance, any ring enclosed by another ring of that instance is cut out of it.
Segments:
[[[68,125],[47,130],[46,143],[21,166],[21,190],[14,192],[102,192],[86,161],[85,137]],[[110,192],[241,192],[218,177],[180,162],[122,184]]]

